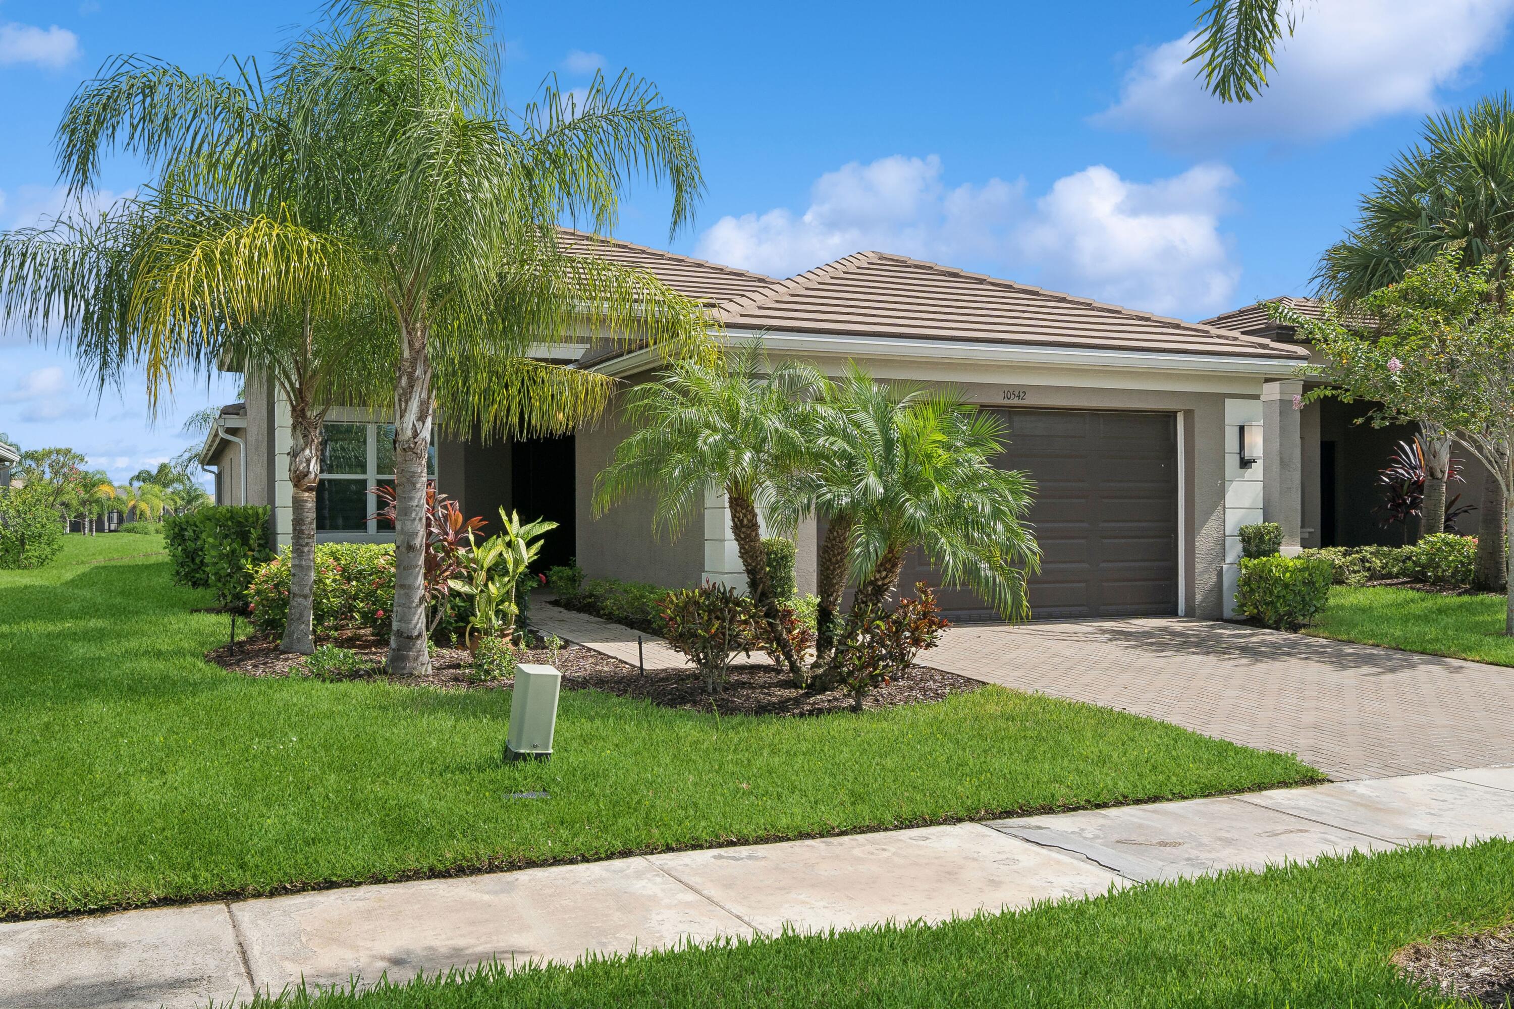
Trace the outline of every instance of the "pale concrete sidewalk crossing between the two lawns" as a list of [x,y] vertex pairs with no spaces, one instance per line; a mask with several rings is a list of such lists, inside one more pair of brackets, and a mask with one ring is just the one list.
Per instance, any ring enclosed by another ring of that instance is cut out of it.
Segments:
[[0,924],[0,1006],[201,1006],[722,935],[940,921],[1319,855],[1514,837],[1514,767]]

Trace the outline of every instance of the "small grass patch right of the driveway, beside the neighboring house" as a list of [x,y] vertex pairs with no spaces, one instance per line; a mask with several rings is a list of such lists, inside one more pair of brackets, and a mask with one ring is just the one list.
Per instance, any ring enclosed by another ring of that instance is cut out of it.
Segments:
[[1503,596],[1337,585],[1305,634],[1514,666],[1514,638],[1503,634]]

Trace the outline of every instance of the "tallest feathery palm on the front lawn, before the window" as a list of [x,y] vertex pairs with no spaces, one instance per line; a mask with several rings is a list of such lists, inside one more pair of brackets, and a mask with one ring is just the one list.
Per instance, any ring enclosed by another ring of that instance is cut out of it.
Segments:
[[[707,340],[698,304],[643,271],[569,254],[556,231],[563,216],[613,227],[630,175],[669,183],[672,225],[687,222],[702,180],[683,116],[630,76],[597,77],[583,95],[548,82],[512,115],[492,17],[488,0],[336,0],[280,54],[266,88],[251,68],[223,79],[117,61],[70,106],[62,174],[79,192],[106,151],[135,154],[183,209],[127,256],[58,268],[35,284],[53,301],[27,309],[58,315],[61,304],[88,321],[80,346],[135,355],[153,381],[185,354],[218,354],[229,328],[289,313],[382,319],[395,377],[389,664],[400,675],[428,664],[424,502],[438,402],[459,431],[560,433],[595,416],[610,383],[537,365],[533,345],[586,330],[665,352]],[[206,227],[212,218],[223,224]],[[185,219],[194,225],[174,224]],[[112,278],[117,296],[76,296],[64,283],[76,274]]]

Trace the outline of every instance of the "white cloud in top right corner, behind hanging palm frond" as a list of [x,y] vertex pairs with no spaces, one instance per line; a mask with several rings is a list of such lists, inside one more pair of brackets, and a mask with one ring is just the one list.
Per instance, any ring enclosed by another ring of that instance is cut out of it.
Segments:
[[1146,51],[1101,126],[1148,132],[1178,150],[1238,141],[1297,142],[1346,133],[1396,113],[1425,113],[1503,44],[1514,0],[1328,0],[1301,5],[1270,86],[1225,104],[1195,77],[1181,38]]

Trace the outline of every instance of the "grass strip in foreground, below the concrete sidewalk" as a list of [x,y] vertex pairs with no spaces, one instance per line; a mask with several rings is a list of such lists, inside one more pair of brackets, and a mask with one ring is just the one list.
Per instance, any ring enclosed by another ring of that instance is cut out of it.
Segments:
[[1488,841],[1148,885],[939,927],[786,935],[515,974],[486,967],[362,995],[295,991],[277,1004],[1452,1006],[1466,1003],[1414,986],[1388,958],[1511,911],[1514,844]]

